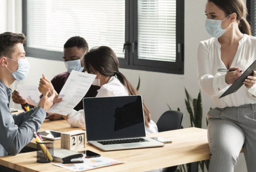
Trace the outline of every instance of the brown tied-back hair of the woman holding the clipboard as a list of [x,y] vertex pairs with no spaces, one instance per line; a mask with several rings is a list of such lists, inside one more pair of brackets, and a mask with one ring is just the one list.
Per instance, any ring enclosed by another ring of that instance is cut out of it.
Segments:
[[232,13],[236,13],[239,30],[247,35],[252,35],[249,23],[243,18],[244,15],[247,16],[247,9],[243,0],[208,0],[208,2],[213,2],[223,10],[226,17]]

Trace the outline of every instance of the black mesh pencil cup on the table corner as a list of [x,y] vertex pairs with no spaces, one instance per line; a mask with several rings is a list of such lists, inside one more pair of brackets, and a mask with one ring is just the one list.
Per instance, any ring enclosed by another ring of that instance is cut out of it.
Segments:
[[37,143],[37,162],[49,163],[53,162],[53,140],[43,140]]

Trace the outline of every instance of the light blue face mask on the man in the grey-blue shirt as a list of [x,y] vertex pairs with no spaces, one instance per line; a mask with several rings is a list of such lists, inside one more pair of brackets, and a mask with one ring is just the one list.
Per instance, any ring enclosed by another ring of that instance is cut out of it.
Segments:
[[[13,60],[11,58],[8,58],[10,60]],[[13,77],[17,80],[17,81],[22,81],[23,79],[25,79],[27,77],[27,74],[29,72],[30,69],[30,65],[29,62],[27,60],[27,58],[22,58],[17,60],[13,60],[15,62],[18,62],[18,69],[17,71],[10,71],[10,69],[8,69],[10,72],[12,72]]]

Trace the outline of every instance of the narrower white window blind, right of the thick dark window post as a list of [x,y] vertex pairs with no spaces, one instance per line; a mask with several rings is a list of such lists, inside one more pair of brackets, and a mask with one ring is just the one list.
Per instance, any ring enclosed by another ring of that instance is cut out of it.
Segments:
[[138,0],[138,58],[175,62],[176,0]]

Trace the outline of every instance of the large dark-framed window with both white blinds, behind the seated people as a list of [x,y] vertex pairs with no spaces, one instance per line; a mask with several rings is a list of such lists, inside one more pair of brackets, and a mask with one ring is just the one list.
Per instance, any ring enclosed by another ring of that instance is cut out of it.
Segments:
[[27,56],[63,60],[72,36],[110,46],[120,68],[184,73],[184,0],[23,0]]

